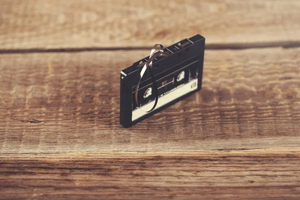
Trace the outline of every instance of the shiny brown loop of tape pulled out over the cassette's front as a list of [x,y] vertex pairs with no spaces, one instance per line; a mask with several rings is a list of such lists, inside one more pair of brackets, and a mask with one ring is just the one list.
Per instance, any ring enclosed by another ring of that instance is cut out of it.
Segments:
[[[159,51],[155,52],[157,46],[159,46]],[[154,53],[155,52],[155,53]],[[156,57],[156,56],[160,56],[163,54],[163,46],[161,44],[155,44],[152,49],[151,49],[151,52],[150,52],[150,56],[149,56],[149,59],[147,60],[147,62],[143,65],[141,71],[140,71],[140,74],[139,74],[139,78],[138,78],[138,82],[136,84],[136,87],[135,87],[135,103],[136,105],[138,106],[139,109],[140,106],[139,106],[139,103],[138,103],[138,98],[137,98],[137,92],[138,92],[138,87],[139,87],[139,83],[141,81],[141,78],[143,76],[143,74],[145,73],[146,69],[149,68],[149,72],[150,72],[150,75],[151,75],[151,79],[152,79],[152,82],[153,82],[153,90],[155,92],[155,102],[154,102],[154,105],[152,106],[151,109],[149,110],[142,110],[144,112],[150,112],[152,111],[155,107],[156,107],[156,104],[157,104],[157,101],[158,101],[158,89],[157,89],[157,84],[156,84],[156,80],[155,80],[155,77],[154,77],[154,74],[153,74],[153,70],[152,70],[152,60]]]

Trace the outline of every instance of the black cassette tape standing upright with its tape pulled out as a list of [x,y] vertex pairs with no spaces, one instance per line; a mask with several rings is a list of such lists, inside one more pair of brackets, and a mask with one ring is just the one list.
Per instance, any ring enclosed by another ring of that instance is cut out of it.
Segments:
[[200,90],[204,47],[199,34],[166,48],[155,44],[149,56],[123,69],[120,124],[127,128]]

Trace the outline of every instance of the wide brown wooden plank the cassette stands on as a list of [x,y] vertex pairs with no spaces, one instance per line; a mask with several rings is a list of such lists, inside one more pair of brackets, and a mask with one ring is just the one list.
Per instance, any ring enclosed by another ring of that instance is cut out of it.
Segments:
[[0,153],[300,146],[300,48],[207,50],[203,87],[124,129],[119,72],[148,51],[0,55]]

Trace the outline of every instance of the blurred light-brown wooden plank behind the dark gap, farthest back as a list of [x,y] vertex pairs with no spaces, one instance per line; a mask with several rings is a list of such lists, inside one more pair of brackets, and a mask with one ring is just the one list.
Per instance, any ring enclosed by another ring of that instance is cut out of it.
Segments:
[[299,0],[1,0],[0,10],[2,50],[168,45],[196,33],[208,46],[300,42]]

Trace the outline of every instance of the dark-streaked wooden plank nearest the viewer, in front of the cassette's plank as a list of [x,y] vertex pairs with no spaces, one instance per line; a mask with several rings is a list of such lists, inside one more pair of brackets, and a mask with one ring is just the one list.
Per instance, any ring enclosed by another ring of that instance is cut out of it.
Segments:
[[298,199],[300,150],[0,154],[5,199]]

